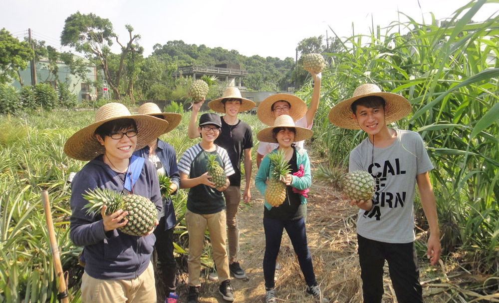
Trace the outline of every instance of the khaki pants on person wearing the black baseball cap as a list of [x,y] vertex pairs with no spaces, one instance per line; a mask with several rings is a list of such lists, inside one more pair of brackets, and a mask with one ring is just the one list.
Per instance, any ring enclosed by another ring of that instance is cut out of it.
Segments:
[[205,242],[206,227],[210,231],[210,240],[213,249],[213,259],[217,266],[219,281],[229,279],[229,259],[225,249],[227,240],[226,214],[222,210],[216,214],[200,215],[187,210],[185,214],[187,231],[189,232],[189,286],[201,286],[201,254]]

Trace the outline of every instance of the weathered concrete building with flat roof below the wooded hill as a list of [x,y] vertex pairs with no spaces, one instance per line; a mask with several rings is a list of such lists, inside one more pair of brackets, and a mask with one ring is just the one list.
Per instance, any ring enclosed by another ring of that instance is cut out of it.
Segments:
[[246,90],[246,87],[241,86],[241,83],[243,78],[248,76],[248,71],[242,70],[239,64],[189,65],[179,67],[176,76],[191,76],[193,80],[203,76],[216,76],[220,81],[226,82],[226,86],[237,86],[240,90]]

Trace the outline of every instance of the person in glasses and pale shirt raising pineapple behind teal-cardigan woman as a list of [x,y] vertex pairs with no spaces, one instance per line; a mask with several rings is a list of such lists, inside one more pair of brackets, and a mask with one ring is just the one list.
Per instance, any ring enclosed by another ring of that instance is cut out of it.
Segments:
[[[296,126],[311,129],[313,118],[319,108],[321,73],[316,74],[313,70],[309,70],[309,72],[312,74],[314,87],[308,109],[305,102],[296,96],[291,94],[274,94],[265,98],[258,105],[258,109],[256,110],[258,120],[267,126],[272,126],[278,116],[289,115],[295,121],[294,124]],[[303,143],[304,141],[298,141],[296,145],[303,148]],[[263,156],[276,148],[276,143],[260,142],[256,150],[256,166],[260,167]]]

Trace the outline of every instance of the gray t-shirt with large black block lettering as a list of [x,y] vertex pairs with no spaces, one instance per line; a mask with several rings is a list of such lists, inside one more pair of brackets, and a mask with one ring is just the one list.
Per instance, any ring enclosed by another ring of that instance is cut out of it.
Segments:
[[373,208],[359,210],[357,233],[375,241],[410,243],[415,240],[416,175],[432,170],[433,164],[418,133],[396,131],[390,146],[374,147],[374,160],[373,144],[364,139],[350,153],[349,171],[367,171],[376,180]]

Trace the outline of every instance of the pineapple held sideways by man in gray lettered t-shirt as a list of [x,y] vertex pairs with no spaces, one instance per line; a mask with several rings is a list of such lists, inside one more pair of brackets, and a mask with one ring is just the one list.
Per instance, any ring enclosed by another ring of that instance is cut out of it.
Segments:
[[350,200],[366,201],[372,199],[375,192],[376,182],[366,171],[357,170],[343,174],[338,168],[326,168],[319,165],[314,178],[341,190]]

